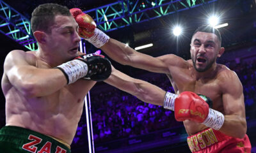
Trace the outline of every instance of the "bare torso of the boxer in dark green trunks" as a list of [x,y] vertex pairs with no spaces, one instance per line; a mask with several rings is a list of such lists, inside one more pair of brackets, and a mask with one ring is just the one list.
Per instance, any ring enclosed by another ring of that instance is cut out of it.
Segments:
[[[51,68],[33,52],[26,52],[29,64]],[[95,82],[80,79],[57,92],[38,98],[25,97],[3,75],[2,88],[6,98],[6,126],[19,126],[53,136],[71,144],[83,112],[83,99]]]

